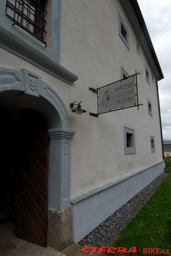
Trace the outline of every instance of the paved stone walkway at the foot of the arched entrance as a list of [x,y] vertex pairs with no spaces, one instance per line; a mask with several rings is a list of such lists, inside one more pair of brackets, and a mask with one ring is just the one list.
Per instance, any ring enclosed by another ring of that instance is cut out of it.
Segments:
[[8,222],[0,224],[0,256],[64,256],[64,254],[51,247],[41,247],[16,238],[15,225]]

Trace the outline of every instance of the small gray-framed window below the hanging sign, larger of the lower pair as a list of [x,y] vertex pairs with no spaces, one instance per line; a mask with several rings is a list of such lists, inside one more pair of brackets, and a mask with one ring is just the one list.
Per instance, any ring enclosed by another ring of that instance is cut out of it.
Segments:
[[125,154],[134,154],[135,149],[135,131],[132,128],[124,126]]

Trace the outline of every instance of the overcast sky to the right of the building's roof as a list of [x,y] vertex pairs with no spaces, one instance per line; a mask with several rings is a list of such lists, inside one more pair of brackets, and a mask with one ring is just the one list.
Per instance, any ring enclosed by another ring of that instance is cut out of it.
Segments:
[[171,0],[138,0],[164,79],[158,82],[163,140],[171,140]]

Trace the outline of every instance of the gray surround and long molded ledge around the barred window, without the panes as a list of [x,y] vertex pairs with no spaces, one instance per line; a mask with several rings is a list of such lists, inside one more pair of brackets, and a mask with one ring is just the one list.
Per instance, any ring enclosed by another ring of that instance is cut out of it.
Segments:
[[[60,62],[61,0],[48,0],[47,47],[6,16],[6,0],[0,1],[0,47],[23,58],[47,73],[71,84],[78,76],[62,67]],[[50,24],[50,25],[49,25]]]

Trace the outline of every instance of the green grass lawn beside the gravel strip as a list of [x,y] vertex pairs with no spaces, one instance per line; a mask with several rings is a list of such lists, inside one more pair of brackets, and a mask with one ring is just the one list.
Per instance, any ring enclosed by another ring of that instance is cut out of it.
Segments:
[[124,227],[112,246],[137,247],[138,251],[129,255],[145,255],[143,247],[159,247],[159,251],[169,249],[169,254],[160,255],[171,255],[171,174]]

